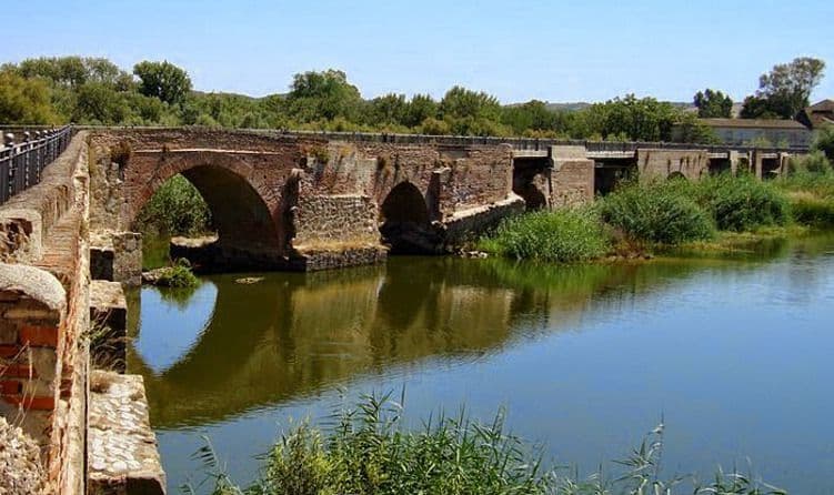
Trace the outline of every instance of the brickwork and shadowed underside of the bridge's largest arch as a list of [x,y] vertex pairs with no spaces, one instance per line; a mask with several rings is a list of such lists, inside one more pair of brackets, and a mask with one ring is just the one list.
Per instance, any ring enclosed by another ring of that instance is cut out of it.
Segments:
[[282,254],[281,194],[259,173],[258,159],[214,151],[140,152],[124,170],[123,222],[131,226],[151,196],[177,174],[188,179],[211,209],[219,242]]

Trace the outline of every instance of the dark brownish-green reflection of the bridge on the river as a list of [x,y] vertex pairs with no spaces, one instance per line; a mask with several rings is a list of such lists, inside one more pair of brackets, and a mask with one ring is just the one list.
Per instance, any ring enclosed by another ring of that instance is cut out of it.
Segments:
[[589,312],[634,304],[704,269],[746,266],[406,257],[385,267],[273,274],[253,285],[223,275],[212,279],[209,327],[174,365],[157,375],[135,352],[129,365],[145,377],[158,427],[201,424],[430,356],[496,352],[531,333],[574,330]]

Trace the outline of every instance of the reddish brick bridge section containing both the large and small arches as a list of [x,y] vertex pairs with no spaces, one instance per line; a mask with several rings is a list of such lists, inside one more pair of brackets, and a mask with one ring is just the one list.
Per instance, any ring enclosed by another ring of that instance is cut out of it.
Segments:
[[[122,143],[130,158],[114,165],[111,150]],[[144,129],[97,132],[91,145],[92,189],[101,195],[93,201],[97,230],[130,231],[154,191],[181,173],[209,203],[218,229],[218,242],[202,259],[237,266],[336,267],[340,252],[343,265],[379,260],[381,205],[403,183],[421,195],[414,223],[456,221],[511,194],[512,151],[503,144]],[[328,261],[311,262],[310,253]],[[107,250],[96,254],[97,266],[109,256]],[[113,280],[125,280],[115,272]]]

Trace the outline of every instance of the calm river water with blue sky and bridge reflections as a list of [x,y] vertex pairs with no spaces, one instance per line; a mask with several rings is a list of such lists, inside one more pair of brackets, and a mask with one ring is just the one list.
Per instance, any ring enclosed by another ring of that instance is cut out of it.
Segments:
[[143,289],[129,366],[144,375],[169,486],[211,437],[233,477],[340,396],[406,391],[415,423],[461,404],[581,472],[663,415],[665,469],[753,468],[834,493],[834,236],[639,265],[399,257],[388,266]]

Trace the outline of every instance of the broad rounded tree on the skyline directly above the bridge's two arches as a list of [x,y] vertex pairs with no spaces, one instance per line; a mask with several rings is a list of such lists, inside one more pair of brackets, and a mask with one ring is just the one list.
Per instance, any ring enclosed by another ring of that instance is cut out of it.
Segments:
[[355,120],[362,97],[339,70],[295,74],[287,95],[290,113],[301,122],[338,117]]

